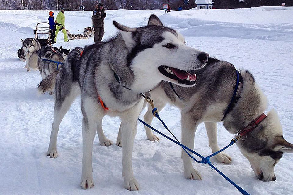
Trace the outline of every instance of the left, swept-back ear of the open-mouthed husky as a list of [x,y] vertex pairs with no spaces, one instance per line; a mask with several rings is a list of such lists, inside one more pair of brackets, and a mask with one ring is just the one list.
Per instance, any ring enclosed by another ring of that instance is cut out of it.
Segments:
[[137,28],[127,27],[117,23],[116,21],[113,21],[113,25],[119,30],[120,34],[122,35],[126,47],[128,49],[131,49],[135,45],[135,41],[132,39],[132,33],[136,32]]

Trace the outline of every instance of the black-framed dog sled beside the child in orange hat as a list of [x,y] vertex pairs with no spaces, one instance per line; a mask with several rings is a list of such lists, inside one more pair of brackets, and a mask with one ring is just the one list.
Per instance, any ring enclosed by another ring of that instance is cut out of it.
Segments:
[[47,22],[39,22],[34,30],[35,39],[37,39],[41,46],[50,46],[50,25]]

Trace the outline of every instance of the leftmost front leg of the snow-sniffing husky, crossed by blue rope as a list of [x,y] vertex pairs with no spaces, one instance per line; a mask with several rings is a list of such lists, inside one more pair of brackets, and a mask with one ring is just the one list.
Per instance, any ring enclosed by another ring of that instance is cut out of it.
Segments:
[[[190,113],[183,114],[181,112],[182,144],[192,150],[194,149],[194,136],[197,126],[197,122]],[[193,168],[191,158],[183,150],[181,157],[183,159],[185,177],[192,180],[202,179],[200,173]]]

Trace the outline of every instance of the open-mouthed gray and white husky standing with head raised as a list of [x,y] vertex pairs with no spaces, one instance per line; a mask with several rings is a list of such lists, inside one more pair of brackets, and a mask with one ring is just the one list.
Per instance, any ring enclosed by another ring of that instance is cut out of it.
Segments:
[[[202,68],[208,54],[185,45],[183,36],[164,27],[151,15],[148,25],[130,28],[113,21],[119,33],[106,42],[73,49],[65,64],[46,77],[38,90],[46,92],[55,84],[54,122],[47,155],[58,155],[56,140],[60,122],[81,93],[83,159],[81,187],[93,187],[92,152],[96,131],[102,131],[105,115],[121,118],[124,187],[139,189],[132,172],[132,149],[137,117],[144,100],[141,93],[161,80],[193,86],[195,70]],[[82,55],[81,55],[82,54]],[[171,71],[172,70],[172,73]],[[107,110],[108,109],[108,110]],[[108,142],[99,137],[100,142]]]

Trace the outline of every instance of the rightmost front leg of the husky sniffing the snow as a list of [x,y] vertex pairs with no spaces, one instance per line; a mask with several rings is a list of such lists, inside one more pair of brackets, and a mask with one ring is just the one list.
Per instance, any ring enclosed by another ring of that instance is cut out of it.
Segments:
[[[207,137],[209,138],[209,147],[212,149],[212,153],[219,151],[217,140],[217,123],[205,122],[205,129],[207,130]],[[224,152],[221,152],[215,156],[215,158],[221,163],[231,163],[231,157]]]

